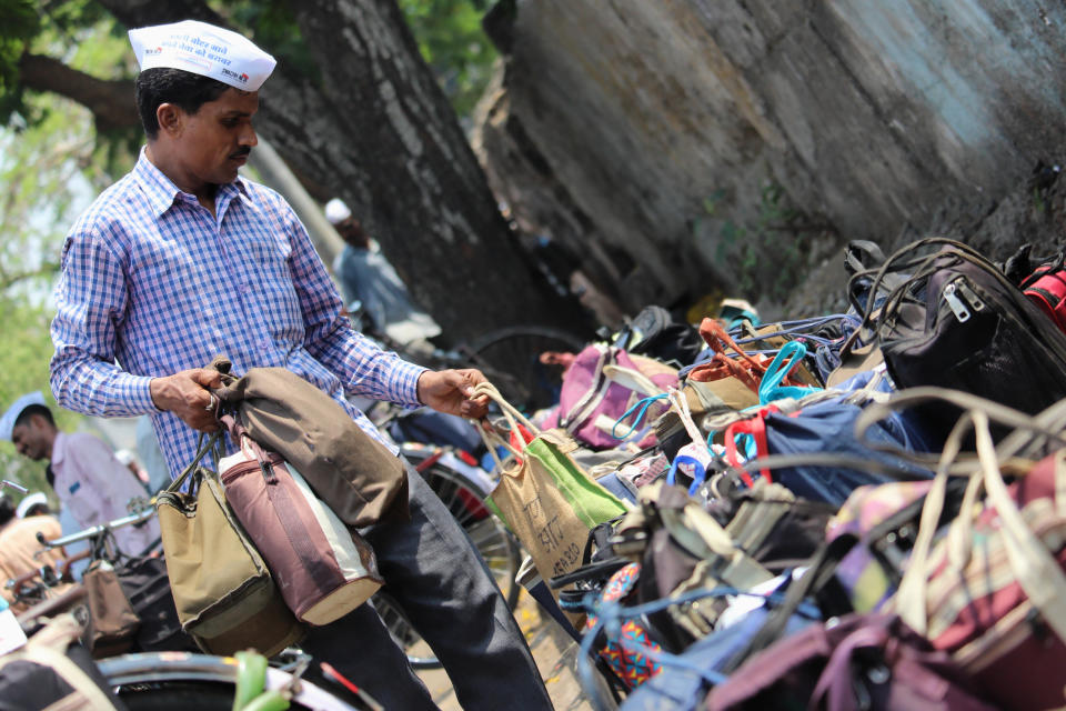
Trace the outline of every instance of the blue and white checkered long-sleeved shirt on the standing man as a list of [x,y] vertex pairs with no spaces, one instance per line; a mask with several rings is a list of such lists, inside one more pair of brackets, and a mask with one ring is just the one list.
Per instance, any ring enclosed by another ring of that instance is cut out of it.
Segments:
[[84,414],[150,414],[171,477],[195,454],[199,433],[155,408],[149,381],[219,354],[237,373],[288,368],[382,442],[345,393],[419,404],[424,369],[350,328],[281,196],[238,178],[219,187],[212,216],[143,150],[71,228],[56,306],[56,401]]

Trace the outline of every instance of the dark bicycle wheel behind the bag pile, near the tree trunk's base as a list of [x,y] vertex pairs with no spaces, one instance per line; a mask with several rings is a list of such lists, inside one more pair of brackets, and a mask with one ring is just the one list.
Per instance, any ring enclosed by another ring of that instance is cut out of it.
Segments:
[[527,412],[559,402],[563,369],[545,365],[545,351],[576,353],[585,340],[559,329],[515,326],[485,333],[470,346],[470,359],[504,398]]

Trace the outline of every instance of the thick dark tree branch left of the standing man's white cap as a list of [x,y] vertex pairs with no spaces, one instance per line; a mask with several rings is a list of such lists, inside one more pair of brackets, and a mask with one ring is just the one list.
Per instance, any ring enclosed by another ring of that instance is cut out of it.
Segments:
[[26,53],[19,60],[22,83],[37,91],[53,91],[90,111],[101,131],[140,126],[131,80],[97,79],[71,69],[58,59]]

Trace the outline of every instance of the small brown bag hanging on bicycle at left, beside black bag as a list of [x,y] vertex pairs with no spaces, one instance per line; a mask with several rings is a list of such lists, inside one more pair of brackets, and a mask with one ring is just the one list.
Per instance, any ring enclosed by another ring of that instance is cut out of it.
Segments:
[[114,657],[133,645],[141,619],[133,611],[114,567],[94,561],[81,578],[86,587],[89,623],[82,641],[95,659]]

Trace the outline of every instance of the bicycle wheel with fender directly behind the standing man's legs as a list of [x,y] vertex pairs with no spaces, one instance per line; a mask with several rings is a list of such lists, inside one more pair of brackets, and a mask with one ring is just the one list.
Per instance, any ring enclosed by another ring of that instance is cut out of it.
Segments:
[[[492,515],[482,503],[492,485],[487,474],[440,448],[405,443],[402,452],[415,469],[420,469],[419,473],[466,531],[500,585],[500,592],[507,605],[513,609],[519,602],[521,591],[515,577],[522,563],[522,554],[517,542],[503,522]],[[412,667],[440,668],[441,663],[429,644],[414,631],[403,611],[386,592],[375,594],[373,604],[393,639],[406,652]]]

